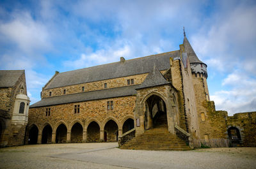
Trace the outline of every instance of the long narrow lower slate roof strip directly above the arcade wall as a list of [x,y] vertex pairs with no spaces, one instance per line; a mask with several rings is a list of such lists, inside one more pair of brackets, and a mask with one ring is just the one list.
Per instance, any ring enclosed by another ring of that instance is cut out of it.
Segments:
[[51,98],[43,98],[34,103],[29,108],[45,107],[50,105],[60,105],[65,103],[75,103],[79,101],[90,101],[95,99],[116,98],[121,96],[131,96],[136,94],[135,89],[138,85],[129,85],[125,87],[116,87],[111,89],[103,89],[99,91],[79,92],[76,94],[67,94],[62,96],[55,96]]

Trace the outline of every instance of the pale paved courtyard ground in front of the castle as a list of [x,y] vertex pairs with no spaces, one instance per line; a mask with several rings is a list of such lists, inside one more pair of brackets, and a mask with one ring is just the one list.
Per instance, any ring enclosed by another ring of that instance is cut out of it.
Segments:
[[0,149],[0,168],[256,168],[256,148],[134,151],[117,143],[25,145]]

